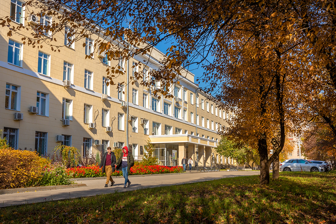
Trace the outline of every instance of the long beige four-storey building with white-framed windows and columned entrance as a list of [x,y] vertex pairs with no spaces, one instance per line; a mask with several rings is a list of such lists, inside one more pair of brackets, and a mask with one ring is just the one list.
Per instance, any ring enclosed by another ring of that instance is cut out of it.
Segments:
[[[1,17],[11,16],[14,26],[24,24],[29,30],[20,32],[30,36],[29,15],[22,3],[3,0],[0,13]],[[51,23],[53,19],[36,17],[37,23]],[[35,22],[30,23],[33,26]],[[147,89],[140,85],[141,78],[132,84],[134,71],[142,71],[147,80],[148,71],[159,68],[159,58],[164,56],[159,50],[153,49],[151,56],[108,61],[93,49],[93,43],[102,40],[99,36],[69,45],[67,28],[46,33],[57,40],[47,42],[63,45],[58,52],[47,43],[42,48],[28,46],[18,34],[8,37],[8,31],[8,27],[0,29],[0,129],[13,148],[47,155],[62,143],[80,149],[86,156],[105,151],[108,146],[128,144],[135,159],[141,160],[146,140],[150,139],[161,165],[180,165],[183,156],[192,157],[200,166],[213,161],[233,163],[215,153],[220,138],[216,130],[227,125],[232,113],[221,110],[198,90],[194,74],[186,72],[185,78],[170,89],[173,98],[152,95],[160,83]],[[85,59],[92,52],[94,56]],[[134,63],[143,60],[145,68],[132,69]],[[128,83],[121,91],[106,85],[107,68],[118,64],[126,75],[116,77],[114,82]]]

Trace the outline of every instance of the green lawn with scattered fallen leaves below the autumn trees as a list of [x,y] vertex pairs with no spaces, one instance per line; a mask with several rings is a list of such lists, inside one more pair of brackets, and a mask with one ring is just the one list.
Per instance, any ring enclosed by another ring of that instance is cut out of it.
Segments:
[[282,172],[0,208],[0,223],[335,223],[336,172]]

